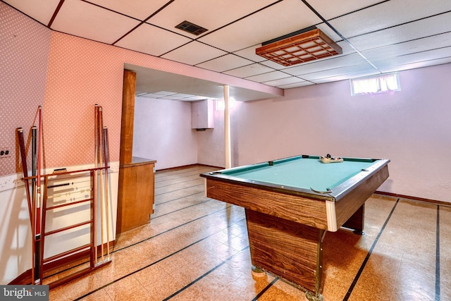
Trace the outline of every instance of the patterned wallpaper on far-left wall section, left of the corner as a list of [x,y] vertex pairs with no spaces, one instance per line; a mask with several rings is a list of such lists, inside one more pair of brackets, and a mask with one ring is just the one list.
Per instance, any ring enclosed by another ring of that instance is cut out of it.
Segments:
[[[0,2],[0,176],[21,171],[16,128],[29,132],[44,102],[51,31]],[[29,157],[29,166],[31,156]]]

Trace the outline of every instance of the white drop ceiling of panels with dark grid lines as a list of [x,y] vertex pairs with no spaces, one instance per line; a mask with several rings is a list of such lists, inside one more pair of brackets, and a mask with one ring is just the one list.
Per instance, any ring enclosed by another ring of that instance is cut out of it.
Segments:
[[[449,0],[6,0],[51,30],[264,85],[290,89],[451,63]],[[183,21],[200,35],[175,28]],[[316,26],[342,54],[282,66],[255,54],[261,43]],[[216,98],[223,83],[135,68],[137,94]],[[231,87],[237,100],[268,94]],[[164,97],[163,97],[164,98]],[[173,97],[174,98],[174,97]]]

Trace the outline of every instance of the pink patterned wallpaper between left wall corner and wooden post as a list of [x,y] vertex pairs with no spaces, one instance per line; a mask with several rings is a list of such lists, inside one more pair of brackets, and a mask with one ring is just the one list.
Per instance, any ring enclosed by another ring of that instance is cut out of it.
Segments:
[[47,166],[94,163],[95,104],[103,109],[110,159],[118,161],[122,87],[115,47],[52,32],[43,117]]

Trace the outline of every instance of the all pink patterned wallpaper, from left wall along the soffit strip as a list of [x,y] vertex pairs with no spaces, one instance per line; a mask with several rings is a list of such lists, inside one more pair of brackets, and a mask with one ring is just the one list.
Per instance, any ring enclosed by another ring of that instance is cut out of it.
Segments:
[[[0,2],[0,176],[20,172],[16,128],[25,135],[42,105],[43,167],[94,163],[94,105],[104,111],[110,160],[119,160],[124,63],[248,89],[273,87],[54,32]],[[257,87],[258,86],[258,87]],[[275,89],[275,88],[274,88]]]

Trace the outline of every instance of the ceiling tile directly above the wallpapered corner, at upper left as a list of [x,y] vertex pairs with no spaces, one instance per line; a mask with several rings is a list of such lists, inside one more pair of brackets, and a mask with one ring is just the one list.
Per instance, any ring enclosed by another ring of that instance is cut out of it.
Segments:
[[112,44],[139,24],[132,18],[83,1],[66,0],[51,29]]

